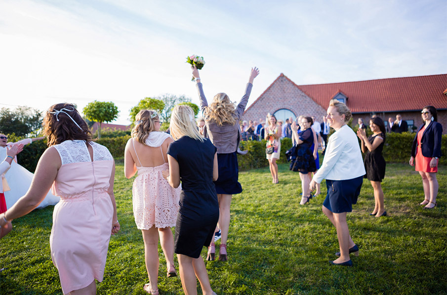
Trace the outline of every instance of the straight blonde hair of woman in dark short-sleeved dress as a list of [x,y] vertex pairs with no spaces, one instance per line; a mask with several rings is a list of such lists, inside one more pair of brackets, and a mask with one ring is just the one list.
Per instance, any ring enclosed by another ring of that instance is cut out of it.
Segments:
[[182,105],[175,106],[171,113],[169,128],[174,140],[178,140],[182,136],[188,136],[203,142],[203,136],[201,136],[199,130],[197,130],[194,120],[194,111],[191,107]]

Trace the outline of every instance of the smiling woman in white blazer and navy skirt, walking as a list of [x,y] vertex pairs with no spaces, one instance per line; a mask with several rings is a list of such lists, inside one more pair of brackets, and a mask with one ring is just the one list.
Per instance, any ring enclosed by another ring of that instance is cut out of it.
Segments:
[[346,213],[351,212],[352,204],[357,203],[366,174],[359,141],[347,125],[351,117],[351,111],[345,104],[336,99],[330,100],[326,118],[335,132],[329,137],[323,164],[309,185],[314,190],[317,184],[326,180],[327,195],[323,202],[323,213],[337,229],[340,246],[340,252],[335,253],[340,258],[329,262],[344,266],[352,266],[350,253],[359,253],[359,248],[349,234]]

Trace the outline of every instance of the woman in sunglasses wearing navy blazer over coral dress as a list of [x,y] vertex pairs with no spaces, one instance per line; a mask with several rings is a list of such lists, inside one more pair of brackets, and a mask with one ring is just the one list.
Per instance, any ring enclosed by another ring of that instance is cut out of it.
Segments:
[[432,209],[436,206],[439,188],[436,173],[438,158],[441,156],[443,126],[437,122],[438,114],[435,107],[425,107],[421,115],[424,124],[417,129],[414,137],[410,165],[415,166],[415,170],[422,177],[425,200],[419,205],[425,205],[425,209]]

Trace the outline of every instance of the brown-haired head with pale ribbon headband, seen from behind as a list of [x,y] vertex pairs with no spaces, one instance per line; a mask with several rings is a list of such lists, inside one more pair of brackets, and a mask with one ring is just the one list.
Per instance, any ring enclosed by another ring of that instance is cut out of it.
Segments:
[[43,135],[48,147],[66,140],[91,140],[91,132],[78,110],[72,104],[52,105],[43,117]]

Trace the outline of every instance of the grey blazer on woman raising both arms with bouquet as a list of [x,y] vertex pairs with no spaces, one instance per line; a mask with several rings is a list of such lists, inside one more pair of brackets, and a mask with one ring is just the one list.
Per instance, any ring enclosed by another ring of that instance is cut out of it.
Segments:
[[[200,109],[203,115],[203,111],[208,106],[208,102],[206,101],[205,94],[203,93],[203,84],[199,82],[196,86],[199,93]],[[244,96],[241,98],[241,101],[235,109],[236,123],[234,125],[224,124],[219,126],[214,120],[205,119],[206,137],[211,140],[215,147],[217,147],[217,153],[232,153],[238,149],[239,138],[241,136],[239,121],[244,114],[248,97],[250,96],[251,87],[253,87],[253,84],[247,83]]]

